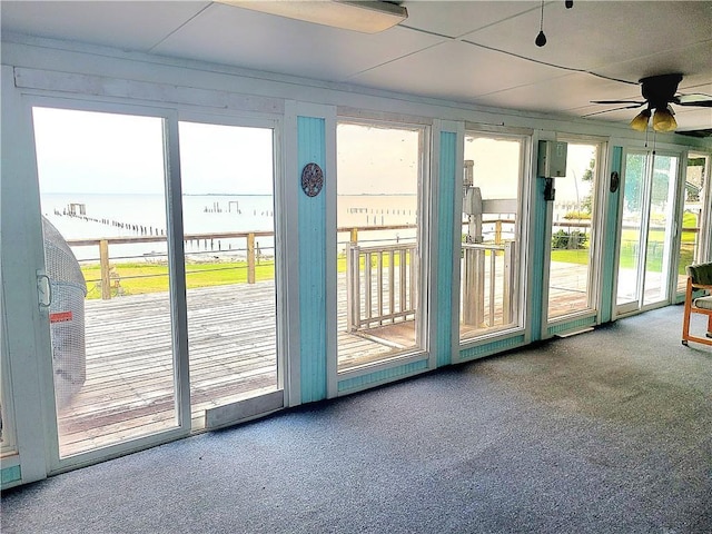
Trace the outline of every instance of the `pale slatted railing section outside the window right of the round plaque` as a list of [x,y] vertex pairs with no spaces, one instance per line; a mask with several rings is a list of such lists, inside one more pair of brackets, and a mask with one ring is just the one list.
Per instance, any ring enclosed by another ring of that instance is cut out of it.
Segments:
[[346,245],[346,324],[348,332],[415,318],[417,245]]

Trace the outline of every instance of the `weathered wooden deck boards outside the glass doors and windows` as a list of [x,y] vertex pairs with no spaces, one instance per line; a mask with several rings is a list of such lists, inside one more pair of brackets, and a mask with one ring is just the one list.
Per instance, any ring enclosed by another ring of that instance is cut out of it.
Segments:
[[[413,322],[348,334],[342,279],[338,309],[339,372],[415,344]],[[165,293],[86,301],[87,379],[58,417],[62,457],[176,426],[169,310]],[[194,428],[207,408],[278,388],[275,324],[273,283],[188,290]]]

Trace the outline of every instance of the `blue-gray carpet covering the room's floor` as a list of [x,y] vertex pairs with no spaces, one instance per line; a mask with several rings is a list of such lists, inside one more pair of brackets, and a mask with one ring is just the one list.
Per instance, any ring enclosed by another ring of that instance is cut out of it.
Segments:
[[669,307],[10,490],[2,533],[712,533]]

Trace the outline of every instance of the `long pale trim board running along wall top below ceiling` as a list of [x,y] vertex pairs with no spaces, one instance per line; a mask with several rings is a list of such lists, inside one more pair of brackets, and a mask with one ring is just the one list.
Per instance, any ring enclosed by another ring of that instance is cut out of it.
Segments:
[[[239,95],[243,96],[264,95],[261,98],[281,101],[318,99],[323,103],[334,106],[343,106],[347,101],[346,108],[412,118],[429,117],[427,120],[433,118],[469,120],[474,123],[500,125],[507,128],[534,127],[635,139],[639,136],[637,132],[630,130],[627,125],[617,122],[508,108],[488,108],[360,86],[254,71],[220,63],[126,52],[113,48],[23,34],[2,34],[2,62],[27,69],[76,72],[82,76],[116,78],[125,81],[130,76],[137,82],[165,83],[169,87],[190,88],[198,91],[225,91],[225,88],[228,88],[229,92],[229,88],[239,88],[241,91]],[[138,68],[139,65],[142,67]],[[188,85],[189,80],[190,85]],[[199,102],[188,103],[195,106]],[[662,136],[659,134],[659,140],[662,140]],[[673,139],[673,134],[664,134],[664,137]],[[678,142],[685,146],[709,147],[710,145],[709,138],[685,138],[676,135],[675,138]]]

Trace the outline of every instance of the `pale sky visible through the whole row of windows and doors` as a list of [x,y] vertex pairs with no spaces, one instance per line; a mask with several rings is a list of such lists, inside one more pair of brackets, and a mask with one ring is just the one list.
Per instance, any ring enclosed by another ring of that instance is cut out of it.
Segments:
[[[34,108],[33,119],[43,194],[164,192],[162,119],[50,108]],[[338,194],[416,194],[423,137],[417,128],[340,123]],[[273,192],[270,129],[180,122],[179,138],[184,194]],[[557,200],[587,194],[581,176],[591,154],[590,146],[568,146]],[[475,160],[483,198],[516,196],[517,142],[471,138],[465,159]]]

